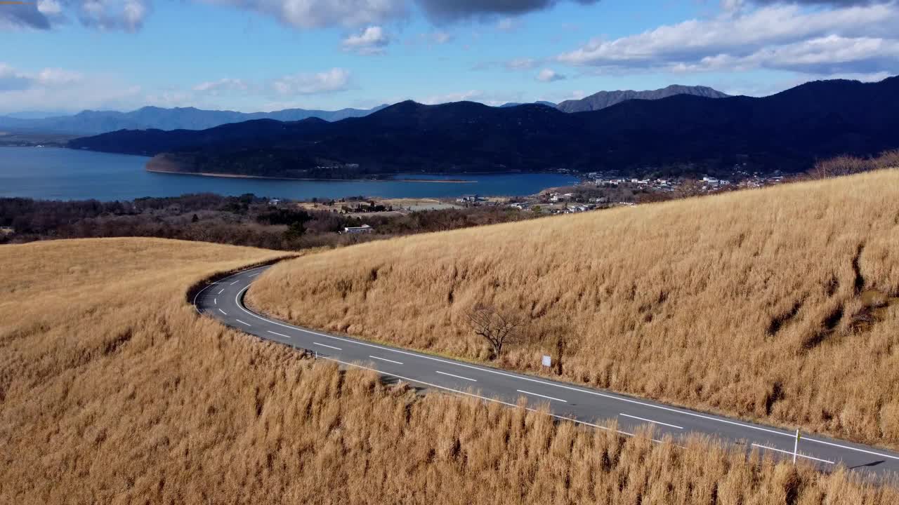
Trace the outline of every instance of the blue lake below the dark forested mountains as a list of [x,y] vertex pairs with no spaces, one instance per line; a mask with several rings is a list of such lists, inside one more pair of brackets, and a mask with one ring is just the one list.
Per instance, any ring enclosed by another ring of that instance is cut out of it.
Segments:
[[254,193],[286,199],[351,196],[437,198],[462,195],[530,195],[577,182],[559,173],[407,175],[416,179],[474,182],[279,181],[150,173],[149,158],[56,147],[0,147],[0,197],[32,199],[136,199],[185,193]]

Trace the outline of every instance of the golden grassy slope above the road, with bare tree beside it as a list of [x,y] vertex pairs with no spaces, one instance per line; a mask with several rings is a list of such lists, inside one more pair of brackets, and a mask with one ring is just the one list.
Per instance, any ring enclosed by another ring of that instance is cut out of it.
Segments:
[[[363,244],[250,290],[294,323],[899,447],[899,171]],[[561,367],[539,367],[541,354]],[[560,359],[561,358],[561,359]]]

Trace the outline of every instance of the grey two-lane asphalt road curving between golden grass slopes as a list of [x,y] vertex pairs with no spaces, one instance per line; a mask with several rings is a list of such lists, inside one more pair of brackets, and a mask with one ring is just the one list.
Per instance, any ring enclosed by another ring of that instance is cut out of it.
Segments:
[[[200,314],[210,315],[265,340],[313,351],[319,359],[373,369],[384,376],[426,388],[476,396],[510,406],[515,406],[523,397],[529,408],[548,404],[549,415],[601,430],[608,428],[598,422],[617,418],[619,432],[624,435],[633,434],[641,425],[651,424],[657,439],[665,434],[677,439],[699,433],[760,453],[793,457],[795,431],[315,332],[258,315],[244,306],[244,294],[267,268],[244,270],[209,284],[193,298],[194,306]],[[845,465],[879,476],[899,474],[899,453],[894,451],[814,435],[803,435],[798,447],[799,459],[812,462],[822,470]]]

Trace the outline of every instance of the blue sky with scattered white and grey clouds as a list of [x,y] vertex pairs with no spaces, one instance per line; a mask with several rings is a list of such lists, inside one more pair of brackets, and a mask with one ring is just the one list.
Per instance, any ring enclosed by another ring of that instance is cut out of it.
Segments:
[[899,0],[36,0],[0,4],[0,113],[764,95],[899,73]]

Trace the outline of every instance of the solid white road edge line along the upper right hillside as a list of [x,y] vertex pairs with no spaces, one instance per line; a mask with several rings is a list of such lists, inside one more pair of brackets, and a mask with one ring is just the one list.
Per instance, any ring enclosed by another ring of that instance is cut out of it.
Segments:
[[[250,270],[247,270],[247,271],[250,271]],[[356,340],[352,340],[352,339],[344,339],[344,338],[342,338],[342,337],[335,337],[334,335],[328,335],[328,334],[320,333],[320,332],[313,332],[313,331],[311,331],[311,330],[307,330],[307,329],[304,329],[304,328],[299,328],[298,326],[293,326],[293,325],[290,325],[290,324],[284,324],[284,323],[280,323],[280,322],[278,322],[278,321],[273,321],[273,320],[271,320],[271,319],[266,319],[265,317],[263,317],[263,316],[261,316],[261,315],[254,314],[253,312],[250,312],[249,310],[247,310],[247,309],[245,308],[245,306],[243,306],[243,305],[239,302],[239,300],[240,300],[240,296],[243,295],[244,291],[245,291],[246,289],[248,289],[248,288],[250,288],[250,287],[247,286],[247,287],[244,288],[240,293],[237,294],[237,296],[236,296],[236,298],[235,298],[235,301],[237,302],[237,306],[239,306],[239,307],[241,308],[241,310],[243,310],[243,311],[244,311],[245,313],[247,313],[248,315],[252,315],[253,317],[255,317],[255,318],[257,318],[257,319],[261,319],[261,320],[263,320],[263,321],[265,321],[265,322],[267,322],[267,323],[275,324],[275,325],[278,325],[278,326],[281,326],[281,327],[284,327],[284,328],[290,328],[290,329],[292,329],[292,330],[297,330],[297,331],[299,331],[299,332],[306,332],[306,333],[309,333],[309,334],[318,335],[318,336],[320,336],[320,337],[325,337],[325,338],[328,338],[328,339],[334,339],[334,340],[336,340],[336,341],[345,341],[345,342],[350,342],[350,343],[354,343],[354,344],[357,344],[357,345],[364,345],[364,346],[367,346],[367,347],[372,347],[372,348],[375,348],[375,349],[389,350],[389,351],[391,351],[391,352],[396,352],[396,353],[398,353],[398,354],[406,354],[406,355],[408,355],[408,356],[414,356],[414,357],[416,357],[416,358],[431,359],[432,361],[437,361],[437,362],[444,363],[444,364],[447,364],[447,365],[452,365],[452,366],[455,366],[455,367],[471,368],[471,369],[473,369],[473,370],[480,370],[480,371],[482,371],[482,372],[486,372],[486,373],[489,373],[489,374],[495,374],[495,375],[498,375],[498,376],[517,378],[517,379],[521,379],[521,380],[533,382],[533,383],[540,384],[540,385],[551,385],[551,386],[553,386],[553,387],[559,387],[559,388],[567,389],[567,390],[570,390],[570,391],[576,391],[576,392],[585,393],[585,394],[593,394],[593,395],[595,395],[595,396],[601,396],[601,397],[603,397],[603,398],[610,398],[610,399],[612,399],[612,400],[618,400],[619,402],[634,403],[634,404],[636,404],[636,405],[642,405],[642,406],[645,406],[645,407],[650,407],[650,408],[653,408],[653,409],[659,409],[659,410],[667,411],[667,412],[679,413],[679,414],[682,414],[682,415],[689,415],[689,416],[692,416],[692,417],[696,417],[696,418],[699,418],[699,419],[705,419],[705,420],[708,420],[708,421],[716,421],[716,422],[721,422],[721,423],[725,423],[725,424],[730,424],[730,425],[733,425],[733,426],[740,426],[740,427],[742,427],[742,428],[746,428],[746,429],[749,429],[749,430],[759,430],[759,431],[764,431],[764,432],[766,432],[766,433],[771,433],[771,434],[774,434],[774,435],[779,435],[779,436],[781,436],[781,437],[789,437],[789,438],[793,438],[793,437],[796,436],[796,433],[788,433],[788,432],[785,432],[785,431],[770,430],[770,429],[768,429],[768,428],[762,428],[761,426],[752,426],[752,424],[746,424],[746,423],[743,423],[743,422],[729,421],[729,420],[726,420],[726,419],[720,419],[720,418],[717,418],[717,417],[713,417],[713,416],[709,416],[709,415],[704,415],[704,414],[700,414],[700,413],[697,413],[697,412],[681,411],[681,410],[679,410],[679,409],[674,409],[674,408],[672,408],[672,407],[665,407],[665,406],[663,406],[663,405],[654,405],[653,403],[639,402],[639,401],[637,401],[637,400],[632,400],[632,399],[630,399],[630,398],[625,398],[625,397],[622,397],[622,396],[616,396],[615,394],[605,394],[605,393],[600,393],[599,391],[591,391],[591,390],[589,390],[589,389],[583,389],[583,388],[581,388],[581,387],[574,387],[574,386],[571,386],[571,385],[554,384],[554,383],[551,383],[551,382],[547,382],[547,381],[543,381],[543,380],[539,380],[539,379],[535,379],[535,378],[523,377],[523,376],[516,376],[516,375],[514,375],[514,374],[508,374],[508,373],[505,373],[505,372],[501,372],[501,371],[499,371],[499,370],[494,370],[493,368],[481,368],[481,367],[475,367],[475,366],[473,366],[473,365],[466,365],[465,363],[457,363],[457,362],[455,362],[455,361],[449,361],[449,360],[447,360],[447,359],[433,358],[433,357],[431,357],[431,356],[427,356],[427,355],[424,355],[424,354],[416,354],[416,353],[414,353],[414,352],[408,352],[408,351],[405,351],[405,350],[391,349],[391,348],[389,348],[389,347],[381,347],[381,346],[378,346],[378,345],[375,345],[375,344],[370,344],[370,343],[368,343],[368,342],[356,341]],[[194,302],[194,304],[196,304],[196,302]],[[394,376],[394,377],[396,377],[396,376]],[[415,381],[415,382],[421,382],[421,381]],[[422,384],[424,384],[424,383],[422,383]],[[550,415],[554,415],[554,414],[550,414]],[[559,419],[568,419],[568,418],[565,418],[565,417],[559,417]],[[585,424],[589,424],[589,423],[585,423]],[[869,455],[872,455],[872,456],[886,457],[886,458],[889,458],[889,459],[894,459],[894,460],[899,461],[899,456],[890,456],[890,455],[888,455],[888,454],[883,454],[883,453],[879,453],[879,452],[876,452],[876,451],[870,451],[870,450],[867,450],[867,449],[861,449],[861,448],[858,448],[858,447],[843,446],[843,445],[841,445],[841,444],[835,444],[835,443],[833,443],[833,442],[827,442],[827,441],[824,441],[824,440],[813,439],[813,438],[811,438],[811,437],[803,438],[803,440],[806,440],[806,442],[815,442],[815,443],[823,444],[823,445],[826,445],[826,446],[839,447],[839,448],[841,448],[841,449],[846,449],[846,450],[850,450],[850,451],[861,452],[861,453],[869,454]]]

